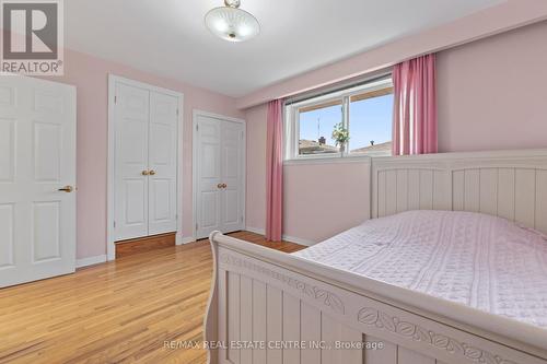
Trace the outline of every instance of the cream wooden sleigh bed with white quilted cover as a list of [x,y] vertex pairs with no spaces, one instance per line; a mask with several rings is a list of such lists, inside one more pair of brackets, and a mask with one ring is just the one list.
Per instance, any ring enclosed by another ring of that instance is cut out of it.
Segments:
[[547,151],[373,158],[373,220],[287,255],[211,234],[212,363],[547,363]]

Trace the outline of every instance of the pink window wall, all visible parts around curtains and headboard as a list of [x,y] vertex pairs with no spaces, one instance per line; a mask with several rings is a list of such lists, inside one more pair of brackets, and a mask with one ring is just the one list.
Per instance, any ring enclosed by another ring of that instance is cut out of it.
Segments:
[[[442,152],[547,148],[545,39],[547,21],[439,54]],[[264,140],[266,108],[246,115],[249,141]],[[248,165],[249,176],[265,175],[264,149],[249,145],[248,155],[261,158]],[[319,242],[368,219],[370,185],[361,166],[286,166],[284,234]],[[258,188],[247,195],[248,213],[260,216],[253,222],[256,228],[264,228],[264,199]]]

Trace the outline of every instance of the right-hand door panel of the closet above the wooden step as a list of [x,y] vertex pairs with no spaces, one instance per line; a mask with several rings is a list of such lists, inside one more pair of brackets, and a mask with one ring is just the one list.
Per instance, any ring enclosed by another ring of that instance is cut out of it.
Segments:
[[178,98],[150,93],[149,235],[176,232]]

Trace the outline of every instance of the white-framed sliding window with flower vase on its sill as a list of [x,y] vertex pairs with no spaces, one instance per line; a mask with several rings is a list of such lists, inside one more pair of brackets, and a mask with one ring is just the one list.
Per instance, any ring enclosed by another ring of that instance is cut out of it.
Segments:
[[392,79],[286,106],[287,158],[391,155]]

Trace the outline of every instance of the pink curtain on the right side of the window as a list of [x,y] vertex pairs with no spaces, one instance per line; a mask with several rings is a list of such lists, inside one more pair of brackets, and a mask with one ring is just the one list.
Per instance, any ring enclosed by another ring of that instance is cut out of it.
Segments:
[[393,70],[393,155],[437,153],[435,56]]

